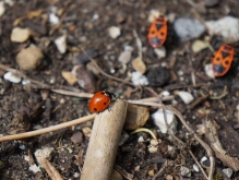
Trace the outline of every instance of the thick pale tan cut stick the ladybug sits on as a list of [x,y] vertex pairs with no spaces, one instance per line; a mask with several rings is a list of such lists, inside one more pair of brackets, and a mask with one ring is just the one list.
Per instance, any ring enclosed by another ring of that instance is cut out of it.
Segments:
[[81,180],[110,180],[120,135],[127,115],[127,103],[117,99],[109,110],[98,113],[88,143]]

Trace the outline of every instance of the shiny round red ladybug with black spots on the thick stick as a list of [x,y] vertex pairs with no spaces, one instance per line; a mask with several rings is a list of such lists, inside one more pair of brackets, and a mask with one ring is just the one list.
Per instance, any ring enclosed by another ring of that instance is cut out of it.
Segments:
[[101,112],[113,99],[116,99],[115,94],[106,91],[100,91],[91,98],[88,108],[92,112]]

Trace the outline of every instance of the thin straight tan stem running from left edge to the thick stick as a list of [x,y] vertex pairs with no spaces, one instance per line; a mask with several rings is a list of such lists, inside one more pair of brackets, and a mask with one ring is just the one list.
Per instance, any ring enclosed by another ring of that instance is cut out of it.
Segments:
[[13,141],[13,140],[21,140],[21,139],[27,139],[31,136],[36,136],[36,135],[40,135],[40,134],[45,134],[48,132],[52,132],[52,131],[58,131],[68,127],[72,127],[72,125],[76,125],[89,120],[93,120],[95,118],[95,113],[83,117],[83,118],[79,118],[69,122],[64,122],[58,125],[52,125],[49,128],[45,128],[41,130],[36,130],[36,131],[29,131],[29,132],[24,132],[24,133],[20,133],[20,134],[14,134],[14,135],[5,135],[5,136],[0,136],[0,142],[5,142],[5,141]]

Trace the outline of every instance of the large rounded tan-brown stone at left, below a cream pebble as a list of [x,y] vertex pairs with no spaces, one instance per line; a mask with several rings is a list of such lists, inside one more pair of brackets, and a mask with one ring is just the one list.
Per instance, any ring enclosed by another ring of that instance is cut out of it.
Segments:
[[37,69],[44,59],[41,50],[36,46],[22,49],[16,56],[16,62],[21,70],[31,71]]

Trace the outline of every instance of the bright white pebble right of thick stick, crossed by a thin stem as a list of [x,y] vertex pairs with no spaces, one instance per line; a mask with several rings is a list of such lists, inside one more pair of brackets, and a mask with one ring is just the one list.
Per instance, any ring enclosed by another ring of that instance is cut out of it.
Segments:
[[[167,118],[168,128],[172,131],[174,134],[176,134],[178,122],[175,118],[175,115],[169,110],[165,110],[165,115]],[[158,109],[156,112],[154,112],[152,115],[152,119],[154,120],[154,123],[160,129],[162,133],[167,133],[163,109]]]

